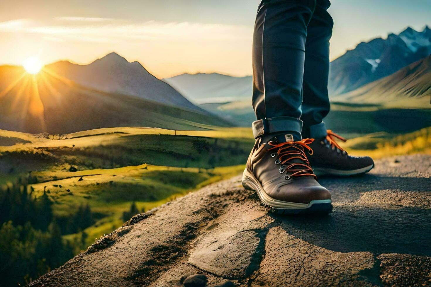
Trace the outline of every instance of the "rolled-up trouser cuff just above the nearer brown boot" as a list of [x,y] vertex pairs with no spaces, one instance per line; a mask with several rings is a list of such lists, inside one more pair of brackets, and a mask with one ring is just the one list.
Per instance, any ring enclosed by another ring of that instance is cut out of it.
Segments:
[[253,136],[257,139],[269,133],[281,133],[292,131],[301,133],[302,120],[294,117],[270,117],[263,120],[255,120],[253,122]]

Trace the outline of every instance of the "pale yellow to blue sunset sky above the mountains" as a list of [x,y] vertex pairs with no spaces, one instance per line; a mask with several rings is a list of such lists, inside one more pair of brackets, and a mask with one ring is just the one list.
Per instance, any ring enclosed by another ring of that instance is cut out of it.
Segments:
[[[156,77],[184,72],[251,74],[259,0],[0,1],[0,65],[70,60],[109,52],[139,61]],[[330,59],[361,41],[407,26],[431,26],[431,0],[333,0]]]

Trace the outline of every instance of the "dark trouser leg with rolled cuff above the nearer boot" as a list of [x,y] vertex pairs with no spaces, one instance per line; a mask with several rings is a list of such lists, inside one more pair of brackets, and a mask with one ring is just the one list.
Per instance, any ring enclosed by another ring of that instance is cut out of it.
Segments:
[[307,25],[315,0],[263,0],[253,36],[253,108],[258,136],[289,132],[301,139]]

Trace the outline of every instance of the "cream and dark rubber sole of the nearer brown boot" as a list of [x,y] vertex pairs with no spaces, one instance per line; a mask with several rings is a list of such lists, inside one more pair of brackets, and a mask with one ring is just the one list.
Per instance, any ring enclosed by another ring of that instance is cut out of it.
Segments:
[[308,204],[274,199],[266,194],[260,182],[247,169],[243,173],[242,185],[246,189],[256,191],[262,203],[271,207],[277,213],[329,213],[332,210],[330,199],[314,200]]

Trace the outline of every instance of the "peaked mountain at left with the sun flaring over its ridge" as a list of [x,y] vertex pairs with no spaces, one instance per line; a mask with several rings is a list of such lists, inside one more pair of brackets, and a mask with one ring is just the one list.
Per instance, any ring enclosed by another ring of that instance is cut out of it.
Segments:
[[[193,105],[137,62],[120,58],[109,54],[84,66],[59,62],[37,75],[19,66],[0,66],[0,129],[65,134],[103,127],[205,130],[231,126]],[[130,86],[128,76],[134,83]],[[133,94],[139,86],[143,92]]]

